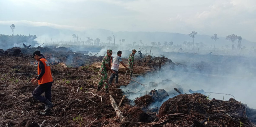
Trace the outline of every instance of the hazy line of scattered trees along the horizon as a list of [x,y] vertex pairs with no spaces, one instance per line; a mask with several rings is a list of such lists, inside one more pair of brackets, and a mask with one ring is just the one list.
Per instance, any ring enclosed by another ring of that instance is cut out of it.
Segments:
[[[35,41],[35,39],[37,38],[36,35],[29,35],[29,36],[25,36],[25,35],[14,35],[14,29],[16,28],[14,24],[11,24],[10,25],[10,28],[11,28],[11,31],[12,31],[12,35],[2,35],[0,36],[0,41],[5,45],[7,44],[7,42],[10,42],[10,41],[14,41],[16,40],[17,42],[16,43],[23,43],[23,42],[31,42],[31,43],[37,43],[37,41]],[[113,38],[114,38],[114,46],[115,46],[115,36],[114,34],[112,33],[113,35]],[[194,38],[195,36],[197,35],[197,32],[195,31],[192,31],[190,34],[188,34],[192,39],[193,39],[193,42],[183,42],[183,44],[186,46],[186,47],[191,47],[192,46],[192,49],[194,49],[194,44],[196,44],[196,48],[198,48],[198,45],[202,45],[202,43],[194,43]],[[12,38],[12,39],[8,39],[8,38]],[[81,41],[81,38],[78,37],[78,35],[75,35],[73,34],[72,35],[73,39],[74,39],[74,44],[77,43],[77,44],[87,44],[87,45],[95,45],[95,46],[106,46],[107,44],[106,43],[103,43],[101,42],[101,39],[99,38],[96,38],[96,39],[92,39],[90,37],[86,37],[87,40],[86,41]],[[111,36],[108,36],[107,37],[107,41],[109,42],[108,46],[110,46],[110,41],[112,41],[113,39]],[[26,40],[28,39],[28,40]],[[33,40],[31,40],[33,39]],[[76,39],[76,42],[75,42],[75,39]],[[215,33],[213,36],[211,36],[211,39],[214,40],[214,50],[215,50],[215,44],[216,44],[216,41],[219,39],[217,34]],[[241,40],[242,40],[242,37],[241,36],[238,36],[238,35],[235,35],[235,34],[231,34],[231,35],[227,35],[226,37],[226,40],[229,40],[232,42],[232,48],[231,50],[234,50],[235,49],[235,46],[234,46],[234,42],[236,40],[238,40],[238,43],[237,43],[237,49],[241,49],[242,47],[242,43],[241,43]],[[51,39],[52,41],[52,39]],[[71,41],[70,41],[71,42]],[[100,43],[101,42],[101,43]],[[122,43],[121,43],[122,42]],[[125,39],[119,39],[119,43],[120,45],[123,44],[124,46],[124,42],[125,42]],[[135,46],[135,44],[137,44],[137,42],[133,42],[133,46]],[[140,42],[138,44],[143,44],[144,46],[144,43],[142,42],[142,40],[140,40]],[[156,43],[156,42],[151,42],[151,45],[153,47],[160,47],[162,44],[160,42]],[[167,42],[167,41],[164,41],[163,43],[163,46],[164,47],[167,47],[167,46],[173,46],[173,42],[170,41],[170,42]]]

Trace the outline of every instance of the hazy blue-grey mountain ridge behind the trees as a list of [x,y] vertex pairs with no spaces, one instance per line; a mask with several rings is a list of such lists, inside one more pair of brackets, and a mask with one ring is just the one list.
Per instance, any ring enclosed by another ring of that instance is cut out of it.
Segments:
[[[180,34],[180,33],[168,33],[168,32],[112,32],[109,30],[104,29],[89,29],[86,31],[71,31],[71,30],[62,30],[62,29],[55,29],[51,27],[27,27],[27,26],[16,26],[14,29],[14,34],[21,34],[21,35],[36,35],[38,37],[37,41],[39,43],[47,43],[47,42],[56,42],[58,41],[71,41],[73,42],[74,39],[72,37],[73,34],[78,35],[81,41],[86,41],[86,37],[90,37],[92,39],[99,38],[101,42],[107,42],[107,37],[113,37],[112,33],[115,35],[115,43],[119,43],[119,39],[125,39],[125,43],[133,43],[134,41],[139,44],[140,40],[143,43],[151,45],[151,42],[160,42],[164,43],[164,41],[170,42],[172,41],[174,45],[183,44],[184,41],[192,42],[192,38],[187,34]],[[8,25],[0,25],[0,34],[11,35],[11,28]],[[218,34],[218,33],[217,33]],[[230,33],[233,34],[233,33]],[[208,45],[208,47],[214,46],[214,40],[210,39],[212,35],[198,35],[195,36],[195,43],[203,42],[204,44]],[[231,42],[227,41],[226,37],[218,37],[219,39],[216,41],[216,47],[222,47],[225,45],[230,45]],[[76,39],[75,39],[76,40]],[[114,39],[112,39],[113,43]],[[234,43],[235,47],[237,45],[237,40]],[[242,39],[242,46],[245,47],[256,47],[255,42],[250,42],[246,39]]]

